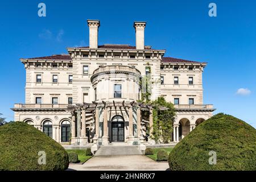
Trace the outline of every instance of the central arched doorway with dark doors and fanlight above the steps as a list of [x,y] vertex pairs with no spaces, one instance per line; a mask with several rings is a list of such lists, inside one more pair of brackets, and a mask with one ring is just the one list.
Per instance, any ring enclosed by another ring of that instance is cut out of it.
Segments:
[[125,142],[125,121],[121,115],[112,118],[112,142]]

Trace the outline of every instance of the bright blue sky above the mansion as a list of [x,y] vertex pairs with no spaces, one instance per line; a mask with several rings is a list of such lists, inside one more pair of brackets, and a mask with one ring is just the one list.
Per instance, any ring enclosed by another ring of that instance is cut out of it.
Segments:
[[[38,4],[46,3],[46,17]],[[208,5],[217,5],[217,17]],[[88,46],[86,19],[100,19],[99,44],[135,45],[134,20],[146,21],[145,44],[166,56],[207,61],[204,103],[256,127],[255,1],[3,1],[0,7],[0,113],[13,119],[24,103],[21,57],[67,53]],[[240,90],[238,90],[240,89]]]

